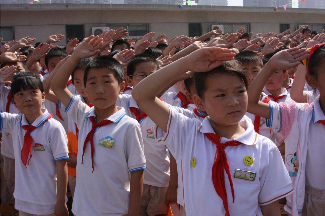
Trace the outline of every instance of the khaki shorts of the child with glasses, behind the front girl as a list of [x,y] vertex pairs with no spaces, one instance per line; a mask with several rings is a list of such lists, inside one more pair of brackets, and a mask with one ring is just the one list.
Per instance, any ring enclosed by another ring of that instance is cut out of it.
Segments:
[[167,215],[168,206],[165,204],[168,187],[156,187],[143,184],[140,205],[140,216]]

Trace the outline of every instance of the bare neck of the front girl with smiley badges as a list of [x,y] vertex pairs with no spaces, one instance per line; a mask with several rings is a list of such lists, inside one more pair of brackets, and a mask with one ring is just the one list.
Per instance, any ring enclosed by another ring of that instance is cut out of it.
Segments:
[[229,140],[239,137],[245,132],[245,129],[241,127],[239,123],[234,125],[220,125],[211,119],[210,123],[215,134],[218,134],[219,136],[225,137]]

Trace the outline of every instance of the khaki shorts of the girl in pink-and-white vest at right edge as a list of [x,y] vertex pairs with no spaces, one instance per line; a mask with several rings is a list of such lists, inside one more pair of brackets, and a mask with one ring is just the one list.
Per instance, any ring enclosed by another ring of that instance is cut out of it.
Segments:
[[302,215],[325,216],[325,190],[306,186]]

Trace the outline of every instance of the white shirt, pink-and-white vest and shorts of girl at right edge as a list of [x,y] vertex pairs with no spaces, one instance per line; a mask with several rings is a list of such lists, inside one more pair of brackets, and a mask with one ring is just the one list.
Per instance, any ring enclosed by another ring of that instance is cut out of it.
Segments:
[[285,139],[285,165],[294,185],[284,209],[293,216],[322,215],[325,170],[319,164],[325,152],[325,116],[319,96],[311,104],[269,105],[270,118],[266,123]]

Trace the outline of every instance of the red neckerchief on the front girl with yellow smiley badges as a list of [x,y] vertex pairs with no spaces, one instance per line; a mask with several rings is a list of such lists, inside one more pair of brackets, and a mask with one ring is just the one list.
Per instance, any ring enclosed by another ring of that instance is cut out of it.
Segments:
[[217,194],[222,199],[222,202],[224,204],[224,208],[226,210],[225,216],[230,216],[229,209],[228,209],[228,200],[227,200],[227,191],[226,191],[226,185],[225,185],[225,173],[224,169],[228,175],[228,180],[231,187],[231,194],[232,194],[232,202],[235,202],[235,193],[233,188],[233,181],[231,179],[231,174],[229,170],[229,163],[227,161],[227,156],[225,152],[225,148],[227,146],[236,146],[242,144],[241,142],[232,140],[226,143],[221,143],[221,137],[219,135],[216,135],[214,133],[205,133],[205,136],[214,144],[216,144],[217,147],[217,158],[214,161],[213,167],[212,167],[212,182],[214,185],[214,189],[217,192]]

